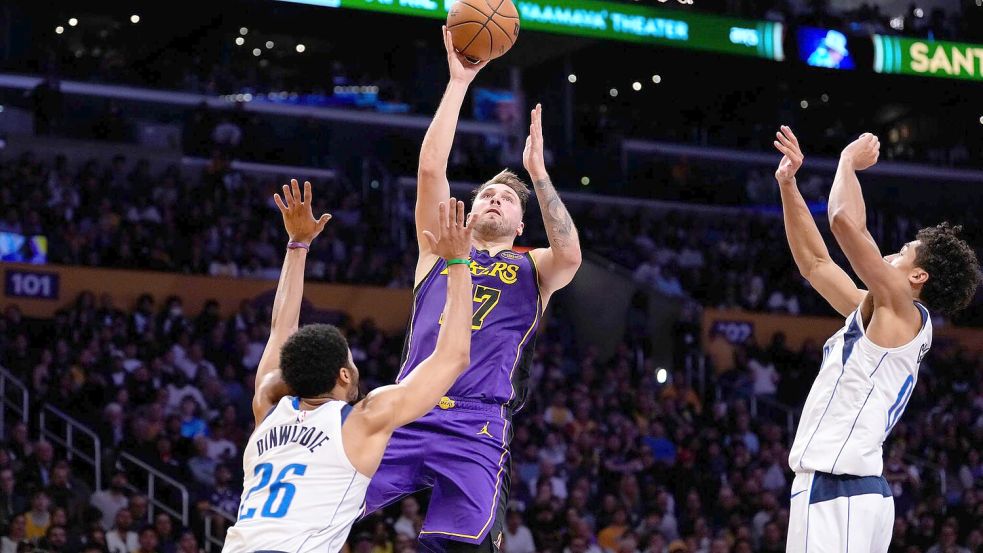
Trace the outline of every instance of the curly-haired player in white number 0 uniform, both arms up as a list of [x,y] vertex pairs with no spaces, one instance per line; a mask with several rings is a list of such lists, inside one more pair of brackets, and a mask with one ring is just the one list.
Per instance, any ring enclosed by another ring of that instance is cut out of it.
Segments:
[[846,323],[823,348],[823,363],[802,408],[789,455],[792,483],[786,550],[885,552],[894,499],[883,471],[882,444],[897,424],[932,346],[929,310],[966,307],[980,283],[979,263],[959,227],[918,231],[897,253],[882,256],[867,230],[857,179],[877,163],[880,142],[865,133],[846,147],[829,197],[829,224],[857,288],[833,262],[795,182],[799,141],[777,133],[784,154],[775,177],[785,230],[799,272]]

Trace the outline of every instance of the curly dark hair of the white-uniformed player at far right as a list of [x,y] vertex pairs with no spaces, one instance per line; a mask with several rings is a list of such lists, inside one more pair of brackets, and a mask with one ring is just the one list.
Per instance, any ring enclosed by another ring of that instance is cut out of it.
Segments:
[[976,252],[959,237],[962,227],[948,222],[918,231],[915,265],[928,273],[920,299],[942,313],[955,313],[973,300],[980,285]]

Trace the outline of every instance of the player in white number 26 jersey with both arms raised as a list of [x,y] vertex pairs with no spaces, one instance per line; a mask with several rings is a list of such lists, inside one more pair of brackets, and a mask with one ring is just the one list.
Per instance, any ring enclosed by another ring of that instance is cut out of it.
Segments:
[[393,430],[430,411],[469,366],[471,231],[464,202],[449,198],[435,206],[422,237],[448,268],[435,348],[412,375],[352,406],[359,375],[345,337],[330,325],[297,328],[307,251],[329,219],[314,219],[310,183],[304,190],[292,181],[275,198],[290,242],[256,373],[256,430],[243,452],[244,491],[226,553],[340,551]]

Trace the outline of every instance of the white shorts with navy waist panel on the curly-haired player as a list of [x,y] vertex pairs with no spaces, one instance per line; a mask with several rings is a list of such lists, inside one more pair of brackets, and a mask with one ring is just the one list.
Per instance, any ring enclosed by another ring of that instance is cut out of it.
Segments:
[[893,531],[894,497],[883,476],[795,475],[786,553],[884,553]]

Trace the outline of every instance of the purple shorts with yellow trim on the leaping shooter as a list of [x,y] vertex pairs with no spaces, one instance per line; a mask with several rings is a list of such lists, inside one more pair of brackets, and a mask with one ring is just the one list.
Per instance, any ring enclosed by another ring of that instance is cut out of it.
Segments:
[[425,546],[441,551],[446,539],[480,544],[490,531],[492,544],[501,543],[510,480],[509,417],[498,404],[444,398],[396,429],[369,484],[366,514],[433,488],[420,532]]

